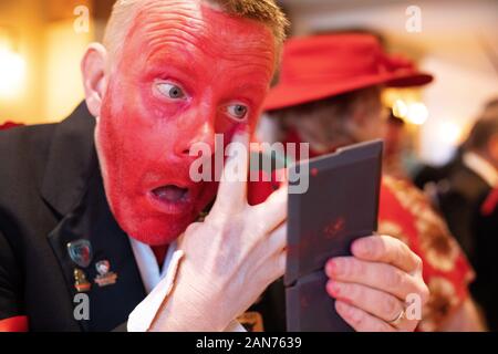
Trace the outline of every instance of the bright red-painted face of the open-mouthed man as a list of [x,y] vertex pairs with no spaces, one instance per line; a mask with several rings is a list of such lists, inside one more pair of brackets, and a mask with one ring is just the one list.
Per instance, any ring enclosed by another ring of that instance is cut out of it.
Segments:
[[[95,137],[107,200],[128,236],[176,239],[214,199],[193,183],[194,143],[215,153],[235,129],[256,126],[274,63],[263,24],[196,1],[142,7],[110,73]],[[246,112],[247,110],[247,112]]]

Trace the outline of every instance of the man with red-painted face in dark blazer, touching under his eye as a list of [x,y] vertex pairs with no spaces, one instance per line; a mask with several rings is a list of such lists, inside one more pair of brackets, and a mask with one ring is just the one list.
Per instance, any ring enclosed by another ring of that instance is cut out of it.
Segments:
[[[283,274],[287,190],[249,206],[243,181],[194,183],[190,150],[224,148],[215,134],[247,147],[284,24],[272,0],[117,1],[104,45],[82,61],[85,104],[61,124],[0,135],[0,329],[240,327]],[[246,174],[247,154],[232,153],[225,169]],[[401,241],[364,238],[353,253],[372,278],[427,299]],[[415,329],[392,310],[356,329]]]

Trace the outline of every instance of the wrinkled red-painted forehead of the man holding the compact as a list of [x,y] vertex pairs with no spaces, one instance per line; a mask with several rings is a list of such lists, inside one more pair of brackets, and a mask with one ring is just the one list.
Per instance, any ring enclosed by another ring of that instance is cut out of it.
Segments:
[[[257,52],[274,60],[274,39],[270,29],[253,20],[221,12],[206,1],[148,0],[137,10],[127,39],[139,41],[148,54],[185,45],[208,55],[238,56]],[[136,43],[138,44],[138,43]]]

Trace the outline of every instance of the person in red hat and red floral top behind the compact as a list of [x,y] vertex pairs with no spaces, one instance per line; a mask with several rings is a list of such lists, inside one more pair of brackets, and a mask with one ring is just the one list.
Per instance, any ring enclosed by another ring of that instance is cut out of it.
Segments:
[[[419,86],[432,81],[432,75],[418,72],[409,61],[387,55],[370,34],[292,39],[284,48],[280,82],[264,103],[269,114],[260,126],[260,139],[307,142],[313,157],[382,137],[382,88]],[[400,238],[423,260],[430,298],[419,330],[483,330],[468,294],[474,272],[445,222],[413,185],[384,176],[378,231]],[[339,304],[345,304],[338,312],[362,313],[356,308],[361,298],[375,290],[349,292],[354,280],[338,277],[331,267],[326,269],[329,293]]]

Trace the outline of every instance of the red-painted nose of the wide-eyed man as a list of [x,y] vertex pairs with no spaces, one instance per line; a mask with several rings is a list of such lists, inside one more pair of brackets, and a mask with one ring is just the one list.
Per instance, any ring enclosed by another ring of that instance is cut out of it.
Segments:
[[[195,145],[199,144],[200,150],[209,149],[211,154],[215,152],[215,127],[212,122],[201,122],[193,124],[185,131],[178,131],[178,139],[176,144],[177,156],[189,156]],[[199,148],[193,149],[199,150]]]

